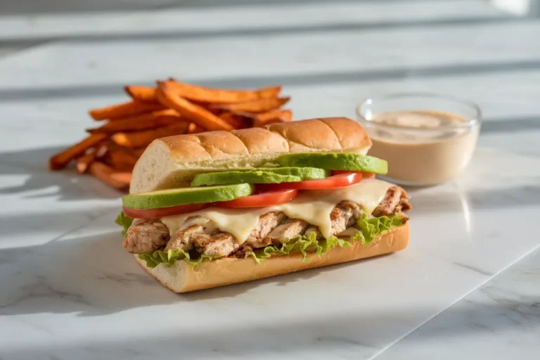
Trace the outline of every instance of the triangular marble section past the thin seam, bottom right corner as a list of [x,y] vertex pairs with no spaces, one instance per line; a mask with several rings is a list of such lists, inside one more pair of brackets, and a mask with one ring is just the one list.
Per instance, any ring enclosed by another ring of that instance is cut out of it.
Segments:
[[377,359],[537,359],[539,264],[536,251]]

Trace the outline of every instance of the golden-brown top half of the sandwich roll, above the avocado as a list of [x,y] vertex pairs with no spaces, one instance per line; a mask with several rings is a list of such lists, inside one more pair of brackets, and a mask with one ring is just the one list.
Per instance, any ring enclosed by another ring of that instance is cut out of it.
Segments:
[[366,130],[346,117],[169,136],[150,143],[141,155],[129,193],[189,186],[198,172],[263,167],[285,153],[365,155],[369,148]]

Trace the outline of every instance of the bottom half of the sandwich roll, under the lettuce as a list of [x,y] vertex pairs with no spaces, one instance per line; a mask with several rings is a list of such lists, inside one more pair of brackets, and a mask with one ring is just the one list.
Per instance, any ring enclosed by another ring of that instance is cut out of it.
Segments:
[[389,254],[403,250],[409,244],[409,223],[391,229],[387,233],[378,236],[368,245],[362,245],[357,241],[349,248],[336,246],[323,257],[314,252],[308,254],[309,262],[302,262],[300,253],[295,255],[283,255],[264,259],[262,265],[257,264],[255,259],[238,259],[226,257],[224,259],[202,262],[190,266],[186,262],[179,261],[173,266],[159,264],[155,268],[146,266],[144,260],[134,255],[136,262],[157,281],[160,281],[174,293],[188,293],[195,290],[216,288],[217,286],[244,283],[246,281],[268,278],[281,274],[293,273],[316,267],[340,264],[357,259],[366,259],[378,255]]

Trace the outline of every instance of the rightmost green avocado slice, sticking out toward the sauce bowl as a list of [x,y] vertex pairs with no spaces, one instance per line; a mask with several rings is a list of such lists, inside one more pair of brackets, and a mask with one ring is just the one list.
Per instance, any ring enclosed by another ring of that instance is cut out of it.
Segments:
[[276,159],[281,166],[320,167],[328,170],[352,170],[357,172],[374,172],[386,174],[386,160],[368,155],[349,153],[297,153],[285,154]]

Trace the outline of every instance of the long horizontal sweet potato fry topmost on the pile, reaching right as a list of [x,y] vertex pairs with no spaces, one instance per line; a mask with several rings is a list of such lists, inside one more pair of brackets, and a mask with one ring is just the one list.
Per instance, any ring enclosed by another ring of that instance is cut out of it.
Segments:
[[257,90],[224,90],[186,84],[184,82],[177,82],[174,79],[169,79],[166,83],[171,91],[174,91],[176,96],[191,101],[214,104],[239,103],[261,98],[275,98],[281,91],[281,86],[271,86]]

